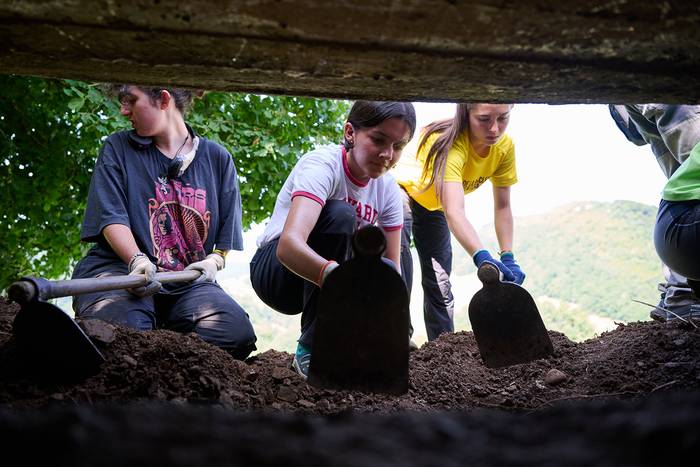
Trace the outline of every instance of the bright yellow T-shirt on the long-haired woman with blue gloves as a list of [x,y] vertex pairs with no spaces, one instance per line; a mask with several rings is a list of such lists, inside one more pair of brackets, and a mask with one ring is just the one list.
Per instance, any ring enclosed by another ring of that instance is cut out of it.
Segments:
[[[404,152],[393,169],[399,185],[418,204],[430,211],[442,209],[442,204],[438,201],[434,188],[423,191],[430,179],[430,172],[423,173],[423,163],[429,148],[438,136],[437,133],[430,135],[420,151]],[[503,135],[496,144],[491,146],[489,153],[482,157],[472,148],[465,131],[455,140],[447,153],[445,182],[461,182],[466,195],[489,179],[494,186],[511,186],[518,181],[513,140],[508,135]]]

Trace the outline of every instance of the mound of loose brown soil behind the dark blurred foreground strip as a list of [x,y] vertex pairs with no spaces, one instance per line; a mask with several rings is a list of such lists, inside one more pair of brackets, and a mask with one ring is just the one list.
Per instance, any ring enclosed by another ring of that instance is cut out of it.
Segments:
[[107,361],[75,384],[39,382],[11,339],[18,307],[0,305],[0,404],[174,401],[239,410],[335,414],[346,411],[533,410],[563,400],[637,399],[700,387],[700,330],[686,323],[620,325],[574,343],[551,332],[553,357],[503,369],[483,366],[473,334],[443,335],[410,356],[410,390],[402,396],[319,390],[291,369],[291,355],[267,351],[245,362],[192,335],[115,329],[98,343]]

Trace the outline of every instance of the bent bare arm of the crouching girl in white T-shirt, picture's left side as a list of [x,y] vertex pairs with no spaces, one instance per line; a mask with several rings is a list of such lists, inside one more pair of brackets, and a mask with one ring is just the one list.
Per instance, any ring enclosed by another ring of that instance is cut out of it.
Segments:
[[323,266],[328,262],[306,242],[311,235],[322,206],[310,198],[295,196],[277,245],[277,258],[296,275],[318,284]]

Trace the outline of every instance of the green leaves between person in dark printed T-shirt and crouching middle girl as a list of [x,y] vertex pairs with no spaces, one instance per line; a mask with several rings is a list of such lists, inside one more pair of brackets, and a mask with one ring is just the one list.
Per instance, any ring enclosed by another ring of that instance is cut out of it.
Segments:
[[233,155],[245,228],[270,216],[299,156],[340,141],[348,111],[344,101],[213,92],[195,103],[187,121]]

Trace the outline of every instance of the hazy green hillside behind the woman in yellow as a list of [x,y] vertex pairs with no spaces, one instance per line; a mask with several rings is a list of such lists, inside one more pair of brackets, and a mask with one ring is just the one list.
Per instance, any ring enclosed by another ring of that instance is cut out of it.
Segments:
[[[527,274],[524,286],[617,321],[649,319],[663,280],[652,231],[656,208],[632,201],[578,202],[546,214],[515,219],[514,250]],[[498,249],[493,226],[480,232]],[[461,256],[461,258],[460,258]],[[455,263],[470,259],[455,249]],[[568,305],[567,305],[568,306]],[[544,314],[544,313],[543,313]]]

